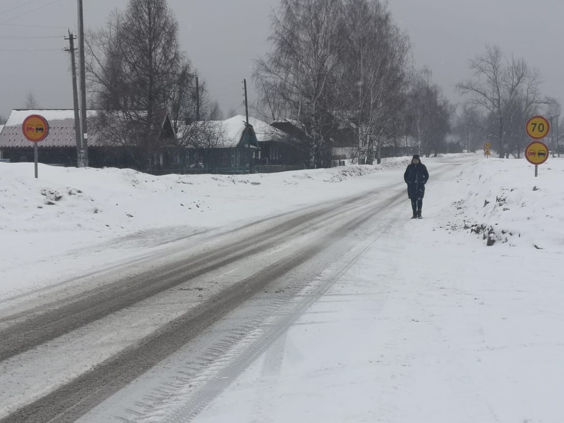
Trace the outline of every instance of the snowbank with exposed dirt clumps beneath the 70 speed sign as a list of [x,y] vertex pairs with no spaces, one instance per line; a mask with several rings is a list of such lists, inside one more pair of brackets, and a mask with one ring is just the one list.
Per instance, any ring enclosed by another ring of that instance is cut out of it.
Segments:
[[[464,169],[466,228],[510,246],[562,250],[564,246],[564,158],[539,166],[524,159],[490,158]],[[491,244],[491,242],[490,242]]]

